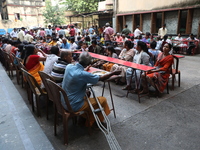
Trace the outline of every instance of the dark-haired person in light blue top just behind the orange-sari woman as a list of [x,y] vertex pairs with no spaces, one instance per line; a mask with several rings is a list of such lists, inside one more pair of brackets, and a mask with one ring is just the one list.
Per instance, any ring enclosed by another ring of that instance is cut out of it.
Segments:
[[150,53],[150,63],[152,66],[154,66],[156,60],[157,60],[157,57],[158,57],[158,54],[161,52],[160,50],[156,50],[156,41],[153,41],[150,43],[150,49],[148,49],[148,52]]

